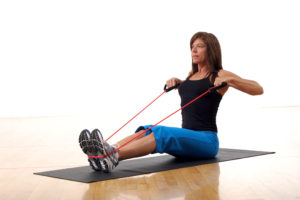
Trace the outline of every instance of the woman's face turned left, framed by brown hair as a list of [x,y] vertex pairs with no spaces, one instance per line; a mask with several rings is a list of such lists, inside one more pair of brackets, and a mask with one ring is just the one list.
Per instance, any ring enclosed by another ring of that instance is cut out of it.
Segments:
[[194,41],[191,53],[194,64],[204,64],[206,62],[206,45],[202,39],[198,38]]

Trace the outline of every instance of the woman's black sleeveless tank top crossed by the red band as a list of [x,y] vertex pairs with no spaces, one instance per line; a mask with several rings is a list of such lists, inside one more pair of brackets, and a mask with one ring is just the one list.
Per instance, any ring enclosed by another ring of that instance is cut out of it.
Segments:
[[[207,91],[213,84],[209,78],[201,80],[186,79],[179,86],[181,106]],[[207,93],[200,99],[181,110],[182,128],[197,131],[218,131],[216,116],[222,95],[218,92]]]

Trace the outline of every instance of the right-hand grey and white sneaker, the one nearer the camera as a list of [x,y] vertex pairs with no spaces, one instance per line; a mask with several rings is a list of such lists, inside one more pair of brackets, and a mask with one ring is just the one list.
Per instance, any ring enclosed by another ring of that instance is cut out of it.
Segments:
[[[106,141],[103,140],[102,134],[98,129],[95,129],[91,133],[91,139],[93,148],[97,154],[108,155],[116,148],[109,145]],[[103,172],[111,172],[119,164],[119,154],[117,151],[110,154],[105,158],[100,159],[100,165]]]

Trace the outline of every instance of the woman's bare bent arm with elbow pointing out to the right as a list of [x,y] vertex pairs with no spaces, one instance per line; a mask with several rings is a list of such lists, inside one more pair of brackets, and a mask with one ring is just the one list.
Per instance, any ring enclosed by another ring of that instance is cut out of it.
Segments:
[[[216,77],[216,80],[214,82],[214,85],[215,86],[221,85],[222,82],[227,82],[228,86],[233,87],[237,90],[240,90],[250,95],[260,95],[264,93],[263,88],[256,81],[243,79],[238,75],[226,70],[219,71],[218,76]],[[227,89],[226,90],[221,89],[220,93],[221,94],[223,92],[225,93]]]

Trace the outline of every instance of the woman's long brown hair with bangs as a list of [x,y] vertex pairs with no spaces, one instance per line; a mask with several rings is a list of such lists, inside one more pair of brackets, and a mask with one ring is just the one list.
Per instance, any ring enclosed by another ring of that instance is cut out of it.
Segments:
[[[190,48],[192,50],[192,45],[197,39],[202,39],[206,45],[206,64],[209,70],[209,76],[211,80],[214,82],[215,78],[218,75],[220,69],[222,67],[222,54],[221,54],[221,46],[215,35],[207,32],[198,32],[193,35],[190,41]],[[192,70],[188,76],[191,77],[193,74],[198,72],[198,64],[192,63]]]

